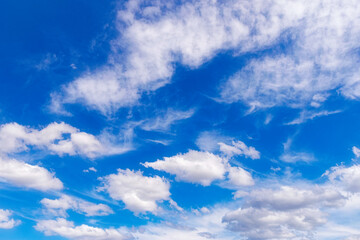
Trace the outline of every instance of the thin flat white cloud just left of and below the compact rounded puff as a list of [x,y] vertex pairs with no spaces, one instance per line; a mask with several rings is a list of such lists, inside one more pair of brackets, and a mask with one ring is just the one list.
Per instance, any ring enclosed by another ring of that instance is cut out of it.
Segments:
[[68,195],[62,195],[58,199],[44,198],[41,200],[41,204],[47,208],[50,213],[62,216],[66,216],[66,211],[69,209],[85,214],[86,216],[106,216],[114,213],[111,208],[105,204],[94,204]]

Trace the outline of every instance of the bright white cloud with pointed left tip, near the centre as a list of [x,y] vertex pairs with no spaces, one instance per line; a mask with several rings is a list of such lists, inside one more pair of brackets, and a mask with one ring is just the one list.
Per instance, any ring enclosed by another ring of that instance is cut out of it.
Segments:
[[212,153],[190,150],[164,160],[146,162],[144,166],[175,174],[178,181],[209,186],[213,181],[224,178],[225,163],[224,159]]

